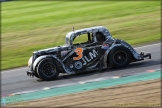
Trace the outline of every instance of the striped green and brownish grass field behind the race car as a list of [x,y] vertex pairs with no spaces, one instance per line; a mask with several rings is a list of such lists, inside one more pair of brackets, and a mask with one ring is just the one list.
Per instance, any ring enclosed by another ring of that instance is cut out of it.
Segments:
[[26,66],[34,50],[64,44],[67,32],[102,25],[139,45],[160,41],[160,2],[3,2],[2,70]]

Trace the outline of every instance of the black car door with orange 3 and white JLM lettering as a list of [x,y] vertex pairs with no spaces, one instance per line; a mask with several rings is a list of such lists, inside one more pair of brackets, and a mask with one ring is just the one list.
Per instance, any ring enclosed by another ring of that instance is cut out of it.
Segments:
[[74,49],[73,66],[75,72],[97,70],[100,68],[100,46],[96,43]]

